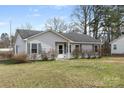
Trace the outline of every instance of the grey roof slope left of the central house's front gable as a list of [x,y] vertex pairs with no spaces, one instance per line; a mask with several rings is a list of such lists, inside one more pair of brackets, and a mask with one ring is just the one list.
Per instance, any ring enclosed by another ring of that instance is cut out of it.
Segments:
[[25,29],[17,29],[16,31],[20,34],[22,39],[25,39],[25,38],[28,38],[30,36],[33,36],[33,35],[36,35],[38,33],[43,32],[43,31],[25,30]]

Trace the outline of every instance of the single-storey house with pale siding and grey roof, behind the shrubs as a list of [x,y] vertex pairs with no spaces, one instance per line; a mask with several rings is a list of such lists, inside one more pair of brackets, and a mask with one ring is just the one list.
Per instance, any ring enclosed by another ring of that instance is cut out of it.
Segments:
[[39,59],[42,51],[49,53],[50,50],[57,52],[57,58],[71,58],[75,48],[79,48],[80,51],[98,52],[101,42],[76,32],[58,33],[23,29],[16,31],[15,54],[26,53],[30,59],[33,54],[37,54]]

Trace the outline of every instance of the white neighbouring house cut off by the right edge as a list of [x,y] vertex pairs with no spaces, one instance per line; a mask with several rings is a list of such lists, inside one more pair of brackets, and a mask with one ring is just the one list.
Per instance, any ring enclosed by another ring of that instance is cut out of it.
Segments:
[[112,55],[124,55],[124,35],[110,42]]

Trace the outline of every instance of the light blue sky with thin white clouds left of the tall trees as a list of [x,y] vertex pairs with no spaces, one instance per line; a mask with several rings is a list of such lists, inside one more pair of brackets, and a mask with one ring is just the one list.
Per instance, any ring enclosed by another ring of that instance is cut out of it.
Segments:
[[7,32],[9,34],[9,21],[12,21],[12,33],[14,34],[17,27],[30,23],[33,29],[42,30],[45,22],[49,18],[61,17],[67,22],[71,21],[75,6],[0,6],[0,34]]

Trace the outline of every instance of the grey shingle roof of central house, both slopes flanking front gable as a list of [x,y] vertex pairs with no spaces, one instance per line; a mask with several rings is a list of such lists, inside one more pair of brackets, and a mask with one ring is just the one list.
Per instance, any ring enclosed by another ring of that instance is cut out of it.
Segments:
[[[36,35],[43,31],[35,31],[35,30],[24,30],[24,29],[17,29],[17,32],[21,35],[22,39],[28,38],[30,36]],[[74,42],[100,42],[100,40],[94,39],[91,36],[80,34],[76,32],[70,33],[59,33],[64,37],[74,41]]]

